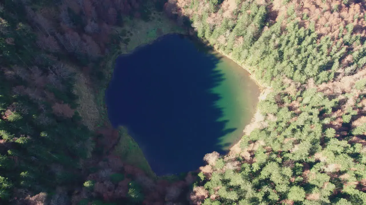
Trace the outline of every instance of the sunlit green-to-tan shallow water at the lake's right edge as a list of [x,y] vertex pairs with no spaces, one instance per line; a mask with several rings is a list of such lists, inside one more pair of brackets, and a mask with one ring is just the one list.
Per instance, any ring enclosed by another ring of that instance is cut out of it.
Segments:
[[[216,52],[213,53],[222,57]],[[260,90],[250,79],[249,73],[227,57],[222,57],[215,69],[224,74],[224,81],[212,89],[221,96],[216,102],[224,113],[220,120],[227,121],[227,128],[237,128],[220,138],[219,143],[227,150],[243,136],[245,125],[250,123],[256,111]]]

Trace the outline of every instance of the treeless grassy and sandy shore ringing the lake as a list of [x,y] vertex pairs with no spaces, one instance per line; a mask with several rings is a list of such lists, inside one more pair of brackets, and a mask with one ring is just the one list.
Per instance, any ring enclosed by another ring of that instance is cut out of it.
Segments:
[[[80,102],[81,107],[90,107],[90,104],[91,105],[95,104],[96,107],[98,108],[97,119],[94,117],[93,123],[87,123],[87,124],[89,124],[88,127],[91,127],[90,124],[94,124],[96,128],[101,127],[105,122],[108,122],[110,124],[110,122],[108,120],[108,116],[107,116],[107,107],[105,105],[105,99],[104,99],[105,94],[104,93],[111,80],[113,70],[115,67],[115,61],[119,55],[129,54],[129,53],[133,52],[136,48],[138,48],[140,46],[148,45],[148,44],[154,42],[154,40],[156,40],[159,37],[164,36],[166,34],[172,34],[172,33],[178,33],[178,34],[184,34],[184,35],[188,34],[188,31],[183,30],[182,28],[176,26],[176,24],[174,22],[172,22],[172,20],[170,20],[166,16],[164,16],[164,13],[158,13],[158,12],[156,12],[156,14],[154,15],[153,20],[151,20],[149,22],[143,22],[142,20],[133,20],[133,21],[126,22],[126,24],[123,28],[116,28],[116,30],[119,32],[122,30],[127,30],[132,35],[129,36],[130,41],[128,43],[121,43],[120,49],[112,51],[111,54],[109,54],[107,57],[105,57],[105,60],[101,63],[101,66],[105,68],[104,75],[106,77],[105,77],[105,80],[103,80],[102,84],[98,85],[98,88],[96,88],[97,92],[94,93],[94,97],[91,96],[90,94],[87,94],[87,96],[85,96],[85,97],[81,97],[81,99],[83,99],[83,102]],[[197,38],[197,36],[194,36],[194,37]],[[201,42],[207,44],[207,42],[203,41],[202,39],[199,39],[199,40]],[[210,46],[210,45],[208,44],[208,46]],[[210,47],[212,47],[212,46],[210,46]],[[212,49],[214,49],[214,48],[212,47]],[[221,55],[224,55],[225,57],[231,59],[231,57],[229,55],[224,54],[220,50],[216,50],[216,49],[214,49],[214,50],[217,51],[218,53],[220,53]],[[234,62],[236,62],[236,61],[234,61]],[[236,62],[236,63],[238,65],[240,65],[240,63],[238,63],[238,62]],[[240,65],[240,66],[243,69],[247,70],[249,73],[251,73],[251,71],[249,69],[247,69],[245,66],[243,66],[243,65]],[[264,87],[264,85],[262,85],[259,81],[257,81],[254,78],[254,75],[251,75],[250,78],[261,89],[261,95],[259,96],[259,100],[261,100],[263,94],[266,93],[266,90],[268,90],[270,88]],[[88,84],[88,83],[81,81],[81,82],[79,82],[79,86],[78,85],[76,85],[76,86],[78,86],[80,88],[84,88],[84,90],[85,90],[86,84]],[[83,92],[79,91],[78,93],[79,93],[79,95],[83,96],[83,94],[82,94]],[[83,105],[85,105],[85,106],[83,106]],[[257,110],[257,112],[259,112],[259,111]],[[96,112],[93,112],[93,113],[96,114]],[[82,115],[83,118],[84,118],[84,116]],[[90,119],[91,117],[85,117],[85,118]],[[252,118],[251,124],[255,124],[255,122],[256,122],[256,120],[255,120],[255,115],[254,115]],[[249,126],[249,125],[247,125],[247,126]],[[131,136],[126,134],[126,129],[124,129],[122,127],[120,128],[120,136],[121,136],[120,143],[117,145],[117,147],[115,149],[115,150],[119,150],[119,151],[117,151],[118,153],[121,153],[121,150],[126,149],[126,146],[124,146],[125,144],[128,144],[129,148],[132,147],[131,149],[128,149],[127,151],[125,150],[123,152],[124,154],[123,154],[122,158],[124,160],[126,160],[126,162],[130,162],[130,163],[132,163],[132,165],[135,165],[135,166],[141,168],[146,173],[148,173],[150,176],[156,177],[156,175],[153,173],[153,171],[149,167],[149,164],[147,163],[147,160],[145,159],[145,156],[143,156],[142,151],[138,147],[137,143],[134,141],[134,139]],[[237,143],[235,143],[232,147],[235,147],[238,144],[240,144],[240,138],[239,138],[239,141]],[[231,148],[231,150],[232,150],[232,148]]]

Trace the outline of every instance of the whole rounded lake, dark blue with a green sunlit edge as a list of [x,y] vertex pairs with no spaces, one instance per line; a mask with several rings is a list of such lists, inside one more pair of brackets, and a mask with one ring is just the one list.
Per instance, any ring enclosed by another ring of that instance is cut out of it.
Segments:
[[123,125],[157,175],[204,165],[243,136],[260,90],[234,61],[179,34],[116,59],[106,91],[113,127]]

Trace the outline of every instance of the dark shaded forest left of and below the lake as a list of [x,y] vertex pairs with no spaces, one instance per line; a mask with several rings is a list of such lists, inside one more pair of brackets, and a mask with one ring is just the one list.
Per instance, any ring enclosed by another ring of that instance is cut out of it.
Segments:
[[117,31],[123,19],[148,21],[163,4],[0,2],[0,204],[164,203],[193,183],[192,175],[157,181],[123,163],[111,152],[118,131],[86,126],[77,111],[75,73],[97,92],[104,57],[128,42]]

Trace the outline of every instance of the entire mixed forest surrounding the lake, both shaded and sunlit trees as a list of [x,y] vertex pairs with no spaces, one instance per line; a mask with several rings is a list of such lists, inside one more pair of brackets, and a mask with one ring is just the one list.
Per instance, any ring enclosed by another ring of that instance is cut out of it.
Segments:
[[[152,11],[270,90],[227,155],[158,178],[75,92],[100,92],[119,28]],[[0,204],[366,204],[365,40],[361,0],[1,0]]]

